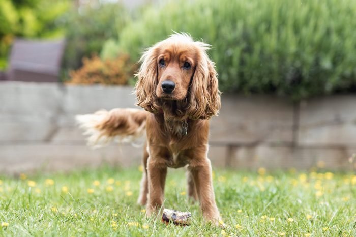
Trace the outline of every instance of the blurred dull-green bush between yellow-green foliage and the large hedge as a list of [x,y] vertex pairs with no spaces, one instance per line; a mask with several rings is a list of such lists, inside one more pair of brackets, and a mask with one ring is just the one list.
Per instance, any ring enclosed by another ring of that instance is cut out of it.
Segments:
[[[82,58],[99,54],[105,40],[118,38],[129,14],[120,4],[82,5],[64,16],[67,46],[63,69],[66,74],[82,66]],[[115,55],[117,57],[118,54]]]

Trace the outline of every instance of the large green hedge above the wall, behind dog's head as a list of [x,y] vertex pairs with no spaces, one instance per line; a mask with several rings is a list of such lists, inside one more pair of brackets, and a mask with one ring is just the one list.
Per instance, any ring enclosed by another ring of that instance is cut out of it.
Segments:
[[127,25],[118,48],[138,60],[188,32],[213,46],[222,91],[301,99],[356,88],[355,16],[354,0],[171,1]]

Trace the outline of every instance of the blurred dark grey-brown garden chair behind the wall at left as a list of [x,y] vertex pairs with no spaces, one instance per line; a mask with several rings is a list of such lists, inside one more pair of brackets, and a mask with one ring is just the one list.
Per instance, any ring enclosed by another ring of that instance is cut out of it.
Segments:
[[0,80],[58,82],[65,40],[16,39]]

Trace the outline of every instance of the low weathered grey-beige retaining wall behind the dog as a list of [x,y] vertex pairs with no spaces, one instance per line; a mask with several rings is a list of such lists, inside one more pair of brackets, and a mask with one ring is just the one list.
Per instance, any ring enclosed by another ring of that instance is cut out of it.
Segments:
[[[74,115],[135,107],[131,87],[0,83],[0,171],[67,170],[102,162],[138,165],[142,148],[85,146]],[[222,96],[211,123],[213,165],[349,169],[356,153],[356,96],[299,104],[274,96]]]

